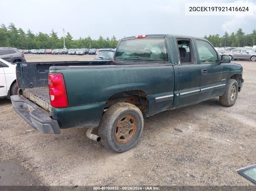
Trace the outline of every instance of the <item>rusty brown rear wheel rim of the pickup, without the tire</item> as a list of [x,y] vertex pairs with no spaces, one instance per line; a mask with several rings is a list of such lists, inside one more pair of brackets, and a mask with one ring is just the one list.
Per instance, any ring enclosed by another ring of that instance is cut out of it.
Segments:
[[115,126],[115,138],[119,143],[131,141],[137,131],[137,121],[134,116],[127,114],[118,120]]

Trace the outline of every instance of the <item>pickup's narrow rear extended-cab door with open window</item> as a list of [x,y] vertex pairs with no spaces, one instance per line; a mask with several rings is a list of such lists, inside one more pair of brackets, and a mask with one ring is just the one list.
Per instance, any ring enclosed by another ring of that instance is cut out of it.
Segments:
[[[173,37],[178,62],[178,91],[173,107],[182,107],[198,100],[200,93],[200,66],[196,62],[192,38]],[[177,89],[177,88],[176,88]]]

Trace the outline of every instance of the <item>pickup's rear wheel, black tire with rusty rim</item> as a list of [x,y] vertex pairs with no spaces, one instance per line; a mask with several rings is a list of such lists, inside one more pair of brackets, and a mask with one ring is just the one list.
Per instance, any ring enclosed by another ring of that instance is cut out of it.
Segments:
[[[129,116],[131,119],[129,119]],[[119,128],[117,123],[121,123],[123,126]],[[131,128],[131,126],[136,127],[135,130],[129,130],[128,128]],[[143,126],[144,120],[139,108],[130,103],[121,102],[112,105],[104,113],[99,124],[98,133],[101,137],[102,145],[111,151],[120,153],[128,151],[136,145],[141,137]],[[126,129],[123,130],[123,128]],[[124,131],[128,133],[120,136],[119,133]],[[119,134],[119,138],[116,138],[117,134]],[[128,135],[128,140],[125,140],[125,135]]]

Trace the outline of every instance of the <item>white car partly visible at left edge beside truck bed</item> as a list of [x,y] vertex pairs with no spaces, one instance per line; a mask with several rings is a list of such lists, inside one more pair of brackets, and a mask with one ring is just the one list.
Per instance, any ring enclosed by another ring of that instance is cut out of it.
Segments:
[[0,58],[0,98],[18,94],[16,64]]

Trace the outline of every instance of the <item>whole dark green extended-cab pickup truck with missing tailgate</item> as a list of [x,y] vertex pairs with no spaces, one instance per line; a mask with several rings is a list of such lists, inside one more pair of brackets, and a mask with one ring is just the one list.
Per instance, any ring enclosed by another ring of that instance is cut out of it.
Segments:
[[138,35],[119,41],[114,61],[19,62],[11,100],[40,132],[88,128],[89,138],[124,152],[141,137],[143,117],[213,97],[234,105],[243,68],[230,62],[203,38]]

